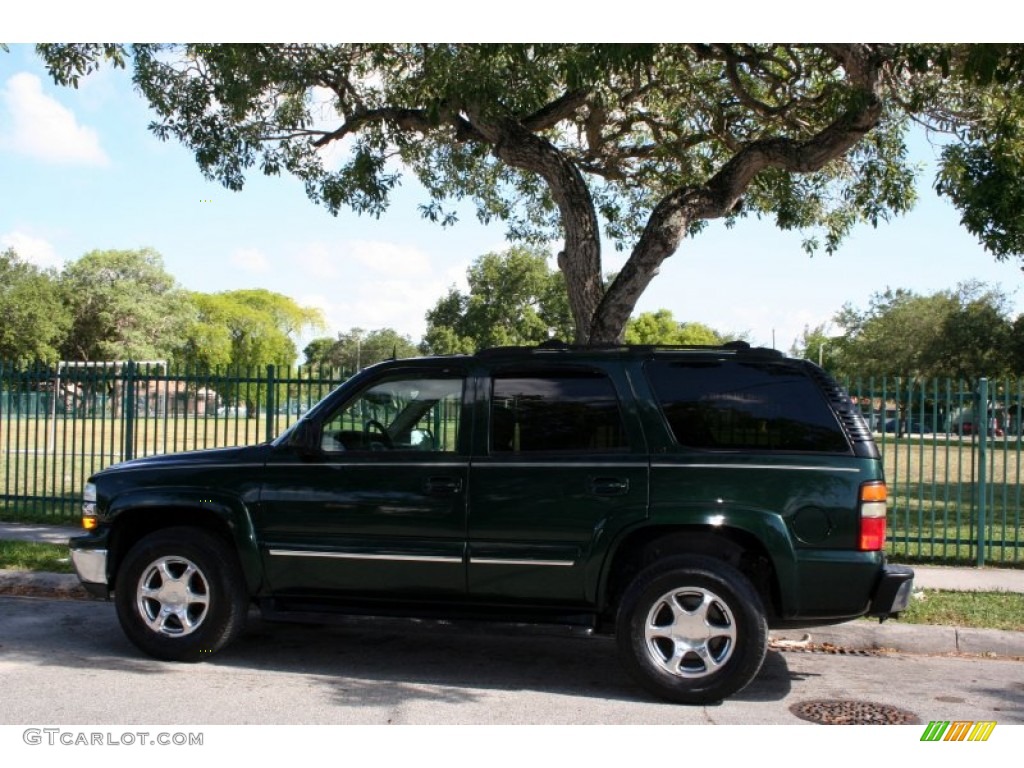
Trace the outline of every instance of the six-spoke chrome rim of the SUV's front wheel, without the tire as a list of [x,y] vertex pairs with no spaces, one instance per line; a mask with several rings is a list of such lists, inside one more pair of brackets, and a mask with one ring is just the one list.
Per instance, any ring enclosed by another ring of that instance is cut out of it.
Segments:
[[210,608],[210,585],[184,557],[161,557],[138,580],[138,612],[154,632],[183,637],[198,630]]

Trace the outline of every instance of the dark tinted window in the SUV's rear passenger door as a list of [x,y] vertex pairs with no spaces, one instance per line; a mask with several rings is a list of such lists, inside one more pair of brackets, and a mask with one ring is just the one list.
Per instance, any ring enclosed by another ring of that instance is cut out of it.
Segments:
[[628,450],[611,381],[595,372],[502,373],[490,394],[492,454]]

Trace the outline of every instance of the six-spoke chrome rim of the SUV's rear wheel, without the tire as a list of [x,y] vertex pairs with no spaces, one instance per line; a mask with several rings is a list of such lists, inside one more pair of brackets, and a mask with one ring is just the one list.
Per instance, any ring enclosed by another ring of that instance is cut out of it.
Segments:
[[651,660],[666,672],[699,678],[717,672],[736,647],[736,620],[722,598],[698,587],[654,601],[644,623]]

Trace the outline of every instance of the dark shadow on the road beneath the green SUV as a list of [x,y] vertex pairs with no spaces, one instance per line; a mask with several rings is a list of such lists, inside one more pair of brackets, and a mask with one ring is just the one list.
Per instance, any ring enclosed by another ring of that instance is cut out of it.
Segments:
[[[396,687],[427,686],[443,698],[482,688],[660,703],[625,672],[611,638],[505,625],[375,618],[312,626],[253,614],[244,635],[211,663],[336,678],[327,684],[348,705],[362,697],[378,706],[381,684],[390,696]],[[770,652],[731,698],[778,700],[791,687],[782,654]]]

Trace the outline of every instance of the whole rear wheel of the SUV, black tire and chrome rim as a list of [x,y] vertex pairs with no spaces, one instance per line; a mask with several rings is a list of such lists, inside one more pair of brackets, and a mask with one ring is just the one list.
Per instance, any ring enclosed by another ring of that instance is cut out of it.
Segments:
[[637,682],[680,703],[713,703],[742,689],[768,648],[764,606],[750,581],[697,555],[641,571],[620,603],[615,635]]

